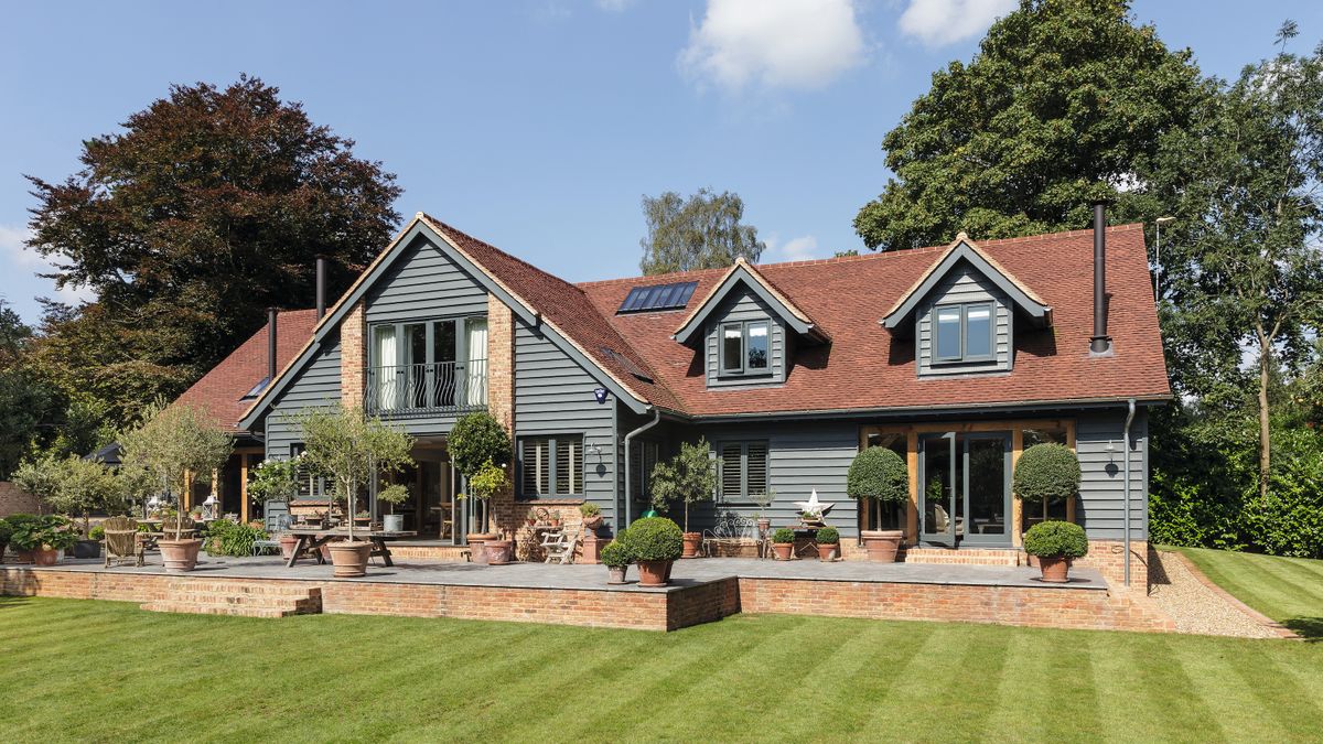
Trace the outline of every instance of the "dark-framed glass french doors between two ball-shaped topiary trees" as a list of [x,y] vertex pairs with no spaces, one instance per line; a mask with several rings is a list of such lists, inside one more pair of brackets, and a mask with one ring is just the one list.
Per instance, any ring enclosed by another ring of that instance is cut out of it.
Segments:
[[1009,433],[925,434],[919,475],[923,543],[1009,547]]

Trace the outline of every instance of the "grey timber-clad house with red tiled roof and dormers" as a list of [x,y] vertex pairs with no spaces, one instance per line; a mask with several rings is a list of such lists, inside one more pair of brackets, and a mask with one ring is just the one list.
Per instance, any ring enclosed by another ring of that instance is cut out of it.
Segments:
[[[513,494],[493,504],[507,528],[583,500],[627,524],[652,465],[705,437],[720,487],[699,527],[769,491],[789,524],[816,490],[847,557],[860,530],[892,527],[908,560],[978,563],[1053,516],[1085,527],[1109,577],[1130,563],[1146,580],[1148,410],[1171,391],[1142,226],[1105,228],[1101,207],[1093,230],[579,285],[419,213],[315,326],[280,318],[270,383],[249,348],[261,332],[208,375],[250,391],[225,401],[235,430],[280,458],[306,406],[396,422],[418,440],[409,528],[439,543],[463,544],[474,519],[446,434],[486,409],[516,447]],[[1021,508],[1013,462],[1048,441],[1078,453],[1080,498]],[[847,498],[867,446],[909,463],[904,507]]]

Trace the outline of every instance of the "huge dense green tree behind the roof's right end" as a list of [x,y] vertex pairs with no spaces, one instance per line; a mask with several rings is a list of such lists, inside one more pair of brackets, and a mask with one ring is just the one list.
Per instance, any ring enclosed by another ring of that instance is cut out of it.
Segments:
[[1189,50],[1136,26],[1129,0],[1021,0],[882,139],[894,177],[855,229],[882,250],[1078,229],[1099,197],[1151,220],[1159,139],[1205,93]]

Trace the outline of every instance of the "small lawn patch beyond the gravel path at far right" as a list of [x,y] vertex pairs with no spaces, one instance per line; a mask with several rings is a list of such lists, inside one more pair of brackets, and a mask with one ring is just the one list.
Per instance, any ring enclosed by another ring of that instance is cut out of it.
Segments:
[[1177,548],[1237,600],[1311,639],[1323,639],[1323,560]]

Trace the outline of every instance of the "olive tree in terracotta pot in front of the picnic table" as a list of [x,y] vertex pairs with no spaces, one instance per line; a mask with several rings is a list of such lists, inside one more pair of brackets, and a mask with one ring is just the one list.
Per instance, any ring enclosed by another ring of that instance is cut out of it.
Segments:
[[[361,408],[343,404],[310,408],[298,421],[303,429],[304,461],[332,479],[335,498],[344,502],[345,515],[355,514],[359,494],[372,479],[413,463],[409,455],[413,437],[381,418],[368,418]],[[329,544],[331,564],[336,577],[364,576],[372,543],[355,539],[353,519],[347,524],[348,539]]]

